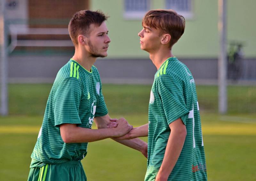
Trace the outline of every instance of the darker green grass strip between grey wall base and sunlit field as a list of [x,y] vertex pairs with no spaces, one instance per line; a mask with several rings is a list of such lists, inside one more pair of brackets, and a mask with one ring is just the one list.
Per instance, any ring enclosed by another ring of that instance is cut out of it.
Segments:
[[[10,84],[11,115],[42,115],[52,84]],[[148,113],[150,85],[103,85],[110,113]],[[218,87],[196,86],[200,110],[217,113]],[[33,106],[32,106],[33,105]],[[256,113],[256,86],[228,86],[228,113]]]

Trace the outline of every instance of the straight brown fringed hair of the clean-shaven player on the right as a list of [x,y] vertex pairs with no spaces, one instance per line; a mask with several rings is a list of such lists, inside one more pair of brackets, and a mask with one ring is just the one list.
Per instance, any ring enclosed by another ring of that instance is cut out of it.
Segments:
[[156,9],[148,11],[142,19],[142,26],[160,29],[161,35],[171,35],[170,49],[183,35],[185,30],[185,19],[174,10]]

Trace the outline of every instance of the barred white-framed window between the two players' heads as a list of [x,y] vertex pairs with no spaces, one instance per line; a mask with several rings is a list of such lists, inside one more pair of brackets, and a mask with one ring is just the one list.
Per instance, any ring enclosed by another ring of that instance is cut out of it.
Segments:
[[141,19],[150,8],[150,0],[124,0],[124,18]]

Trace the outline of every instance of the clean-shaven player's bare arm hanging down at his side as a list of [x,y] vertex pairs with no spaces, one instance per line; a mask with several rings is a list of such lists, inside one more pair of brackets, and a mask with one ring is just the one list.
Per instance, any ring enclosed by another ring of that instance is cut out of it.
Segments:
[[162,165],[157,173],[156,181],[167,181],[183,148],[187,129],[179,118],[169,125],[171,133],[167,142]]

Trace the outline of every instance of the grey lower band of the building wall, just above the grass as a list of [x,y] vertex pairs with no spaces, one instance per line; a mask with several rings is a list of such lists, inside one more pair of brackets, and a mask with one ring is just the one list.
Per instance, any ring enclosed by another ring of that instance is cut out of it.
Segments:
[[[59,69],[72,57],[69,56],[11,56],[9,57],[10,83],[53,83]],[[217,59],[180,59],[186,64],[197,84],[217,84]],[[245,59],[244,70],[238,83],[256,84],[256,61]],[[150,59],[98,58],[98,68],[103,83],[151,84],[156,67]],[[233,82],[233,83],[237,83]]]

